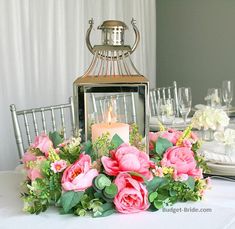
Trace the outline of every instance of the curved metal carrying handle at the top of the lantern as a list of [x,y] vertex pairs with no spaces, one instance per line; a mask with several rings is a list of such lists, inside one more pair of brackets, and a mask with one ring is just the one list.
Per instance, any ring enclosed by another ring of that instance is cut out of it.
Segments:
[[[87,45],[87,48],[89,49],[89,51],[93,55],[95,55],[94,47],[92,47],[91,42],[90,42],[90,34],[91,34],[91,30],[93,29],[93,25],[94,25],[94,19],[93,18],[91,18],[89,20],[89,24],[90,24],[90,26],[89,26],[89,28],[88,28],[88,30],[86,32],[86,45]],[[131,48],[131,51],[125,52],[125,53],[121,54],[119,57],[116,56],[116,57],[112,57],[112,58],[116,59],[116,58],[121,58],[123,56],[127,57],[130,54],[132,54],[135,51],[135,49],[137,48],[137,46],[139,44],[139,41],[140,41],[140,32],[139,32],[139,30],[138,30],[138,28],[136,26],[136,20],[134,18],[132,18],[131,24],[132,24],[133,30],[135,32],[135,42],[134,42],[134,44],[133,44],[133,46]],[[101,57],[109,58],[109,59],[111,58],[110,56],[104,56],[104,55],[102,55],[100,53],[98,53],[98,55],[101,56]]]

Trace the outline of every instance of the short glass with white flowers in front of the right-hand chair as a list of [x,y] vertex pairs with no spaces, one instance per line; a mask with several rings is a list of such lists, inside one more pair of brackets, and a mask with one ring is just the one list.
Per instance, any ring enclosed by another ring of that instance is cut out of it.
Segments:
[[175,120],[175,102],[173,99],[159,99],[157,104],[159,120],[166,125],[172,125]]

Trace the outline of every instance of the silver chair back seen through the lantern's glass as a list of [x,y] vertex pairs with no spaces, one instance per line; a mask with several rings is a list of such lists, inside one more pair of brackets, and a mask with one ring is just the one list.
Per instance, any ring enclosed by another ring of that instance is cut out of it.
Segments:
[[115,113],[118,121],[125,123],[136,123],[136,106],[134,93],[118,93],[108,96],[95,96],[91,94],[93,112],[95,114],[95,121],[102,122],[105,120],[105,112],[107,107],[105,104],[112,99],[116,102]]

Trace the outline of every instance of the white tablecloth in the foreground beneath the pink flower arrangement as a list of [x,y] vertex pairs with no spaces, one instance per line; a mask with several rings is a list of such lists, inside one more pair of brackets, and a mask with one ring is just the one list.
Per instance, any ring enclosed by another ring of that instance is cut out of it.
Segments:
[[105,218],[93,219],[91,217],[59,215],[58,209],[55,208],[40,215],[22,212],[23,204],[19,188],[21,181],[22,175],[19,172],[0,172],[0,229],[235,228],[235,182],[212,180],[212,189],[207,191],[203,201],[175,204],[172,208],[181,211],[178,213],[161,210],[131,215],[114,214]]

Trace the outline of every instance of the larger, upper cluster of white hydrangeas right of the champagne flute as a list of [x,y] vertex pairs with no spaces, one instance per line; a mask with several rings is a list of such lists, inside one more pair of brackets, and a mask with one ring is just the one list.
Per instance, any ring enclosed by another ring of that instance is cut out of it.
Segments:
[[213,107],[198,110],[192,117],[192,125],[196,129],[219,130],[228,126],[229,117],[225,111]]

